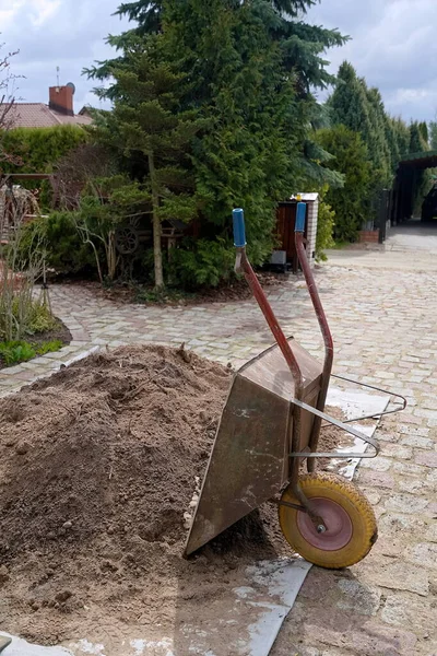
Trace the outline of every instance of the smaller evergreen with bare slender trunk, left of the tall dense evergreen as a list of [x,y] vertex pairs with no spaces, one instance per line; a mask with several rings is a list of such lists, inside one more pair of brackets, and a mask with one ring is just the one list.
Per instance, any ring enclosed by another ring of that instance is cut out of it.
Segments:
[[97,137],[137,161],[145,183],[143,200],[153,216],[155,286],[164,285],[162,221],[190,221],[197,215],[194,180],[187,150],[202,120],[193,109],[180,112],[187,77],[168,63],[163,35],[125,42],[123,60],[110,66],[114,110],[101,124]]

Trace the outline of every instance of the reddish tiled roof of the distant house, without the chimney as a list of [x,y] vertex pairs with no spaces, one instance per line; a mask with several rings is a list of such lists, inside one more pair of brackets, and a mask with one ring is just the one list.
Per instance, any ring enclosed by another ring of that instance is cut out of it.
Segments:
[[51,128],[52,126],[88,126],[86,114],[68,116],[50,109],[45,103],[16,103],[8,115],[11,128]]

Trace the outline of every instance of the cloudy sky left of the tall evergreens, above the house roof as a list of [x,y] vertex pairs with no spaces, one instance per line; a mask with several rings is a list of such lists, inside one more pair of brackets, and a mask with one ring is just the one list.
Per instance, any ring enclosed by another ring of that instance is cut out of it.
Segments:
[[[12,3],[12,9],[11,9]],[[105,43],[109,33],[126,30],[127,21],[114,16],[119,0],[0,0],[0,42],[3,50],[20,50],[11,60],[17,95],[23,102],[48,102],[48,87],[74,82],[74,108],[98,106],[94,81],[82,69],[114,56]],[[3,51],[2,50],[2,51]]]

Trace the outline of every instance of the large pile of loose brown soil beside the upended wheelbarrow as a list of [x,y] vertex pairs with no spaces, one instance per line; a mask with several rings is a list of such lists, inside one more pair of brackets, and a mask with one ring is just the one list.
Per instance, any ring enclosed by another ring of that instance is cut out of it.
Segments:
[[241,563],[290,555],[265,504],[181,558],[229,384],[182,348],[126,347],[0,400],[3,630],[50,644],[165,624],[175,595],[190,612]]

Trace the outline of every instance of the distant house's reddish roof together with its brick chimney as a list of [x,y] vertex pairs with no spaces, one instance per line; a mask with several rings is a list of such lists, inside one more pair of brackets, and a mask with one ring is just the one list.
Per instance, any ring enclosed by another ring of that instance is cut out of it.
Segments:
[[14,103],[8,114],[8,127],[51,128],[54,126],[88,126],[93,119],[86,107],[74,114],[74,85],[50,86],[48,105],[45,103]]

